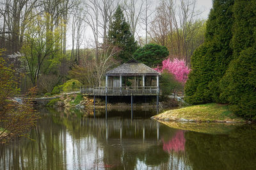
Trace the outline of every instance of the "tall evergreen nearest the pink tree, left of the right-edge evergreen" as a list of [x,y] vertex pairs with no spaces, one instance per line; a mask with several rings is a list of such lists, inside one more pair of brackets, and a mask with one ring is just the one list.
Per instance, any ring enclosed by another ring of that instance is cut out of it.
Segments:
[[205,42],[191,57],[185,86],[190,104],[221,102],[219,82],[232,59],[232,6],[234,0],[215,0],[207,20]]

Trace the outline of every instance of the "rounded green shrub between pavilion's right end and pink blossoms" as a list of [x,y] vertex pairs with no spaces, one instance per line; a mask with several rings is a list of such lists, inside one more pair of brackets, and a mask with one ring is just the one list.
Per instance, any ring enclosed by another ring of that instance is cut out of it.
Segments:
[[171,95],[182,89],[182,84],[178,82],[172,73],[163,72],[160,77],[160,85],[163,95]]

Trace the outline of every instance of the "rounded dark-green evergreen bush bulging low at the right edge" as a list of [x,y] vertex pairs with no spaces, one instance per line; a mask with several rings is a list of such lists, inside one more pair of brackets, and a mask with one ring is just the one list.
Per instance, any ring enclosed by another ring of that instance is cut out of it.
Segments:
[[223,77],[228,79],[225,93],[231,109],[248,120],[256,120],[256,49],[243,50]]

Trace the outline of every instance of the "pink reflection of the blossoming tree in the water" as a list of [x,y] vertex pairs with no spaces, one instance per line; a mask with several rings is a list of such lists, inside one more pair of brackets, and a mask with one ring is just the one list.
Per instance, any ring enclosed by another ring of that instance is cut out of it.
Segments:
[[170,141],[163,141],[163,150],[168,152],[171,152],[172,150],[174,150],[175,152],[184,151],[185,142],[186,139],[184,137],[184,131],[178,130],[173,138],[170,139]]

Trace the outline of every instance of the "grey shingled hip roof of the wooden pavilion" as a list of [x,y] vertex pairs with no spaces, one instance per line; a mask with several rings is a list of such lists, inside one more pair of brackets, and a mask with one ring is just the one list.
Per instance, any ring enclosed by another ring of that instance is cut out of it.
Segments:
[[158,75],[159,72],[153,70],[143,63],[139,63],[135,59],[131,59],[126,63],[109,70],[106,75]]

